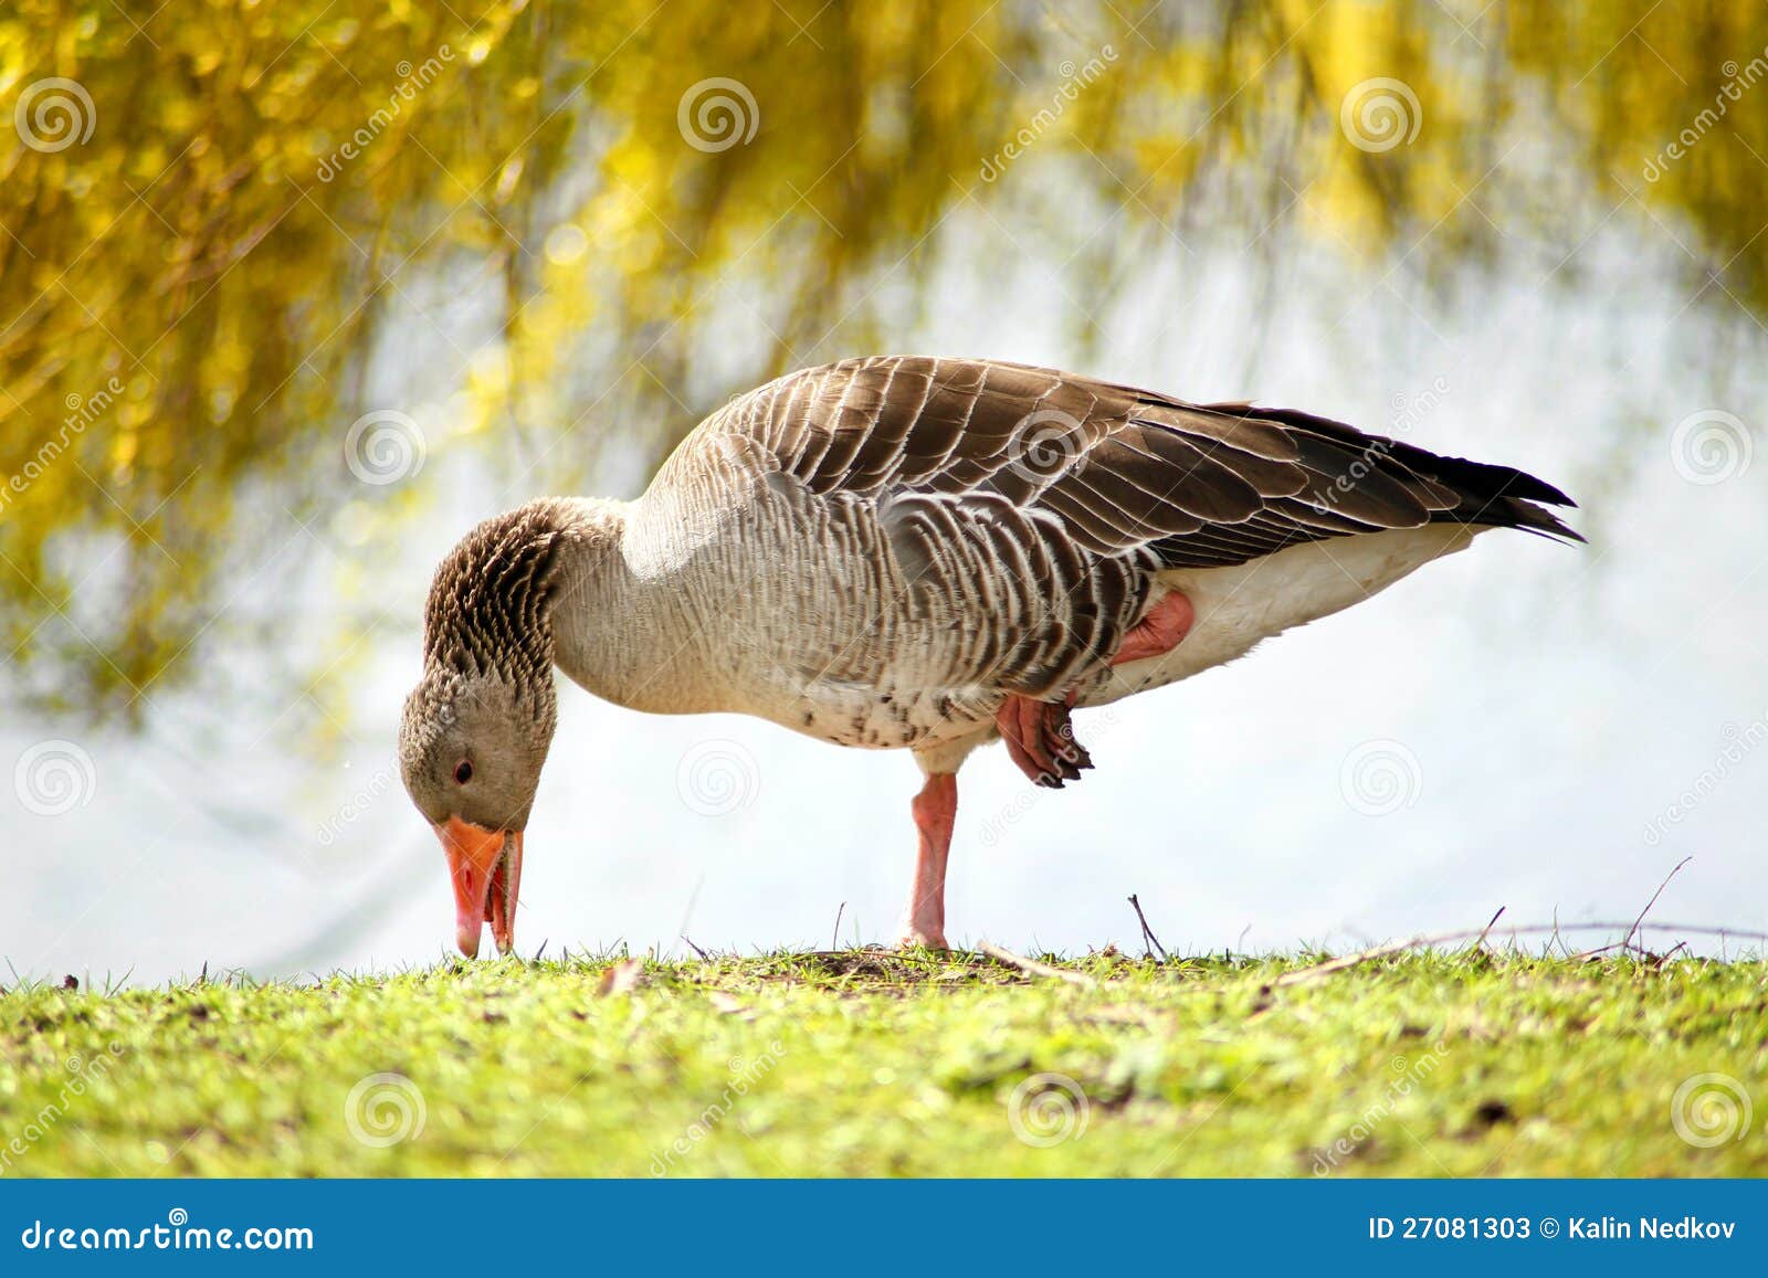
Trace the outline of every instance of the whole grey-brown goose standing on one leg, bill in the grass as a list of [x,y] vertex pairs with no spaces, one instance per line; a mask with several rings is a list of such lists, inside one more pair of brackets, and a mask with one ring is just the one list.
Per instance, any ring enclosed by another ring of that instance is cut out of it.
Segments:
[[553,666],[659,714],[909,749],[898,942],[946,947],[956,772],[1093,767],[1071,711],[1245,656],[1489,529],[1582,541],[1558,488],[1344,422],[981,359],[803,369],[702,421],[636,500],[550,497],[438,566],[400,769],[456,942],[514,946]]

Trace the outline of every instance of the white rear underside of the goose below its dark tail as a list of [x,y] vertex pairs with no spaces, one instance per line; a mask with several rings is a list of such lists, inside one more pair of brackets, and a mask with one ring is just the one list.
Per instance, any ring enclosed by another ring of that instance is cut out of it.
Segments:
[[1234,567],[1162,573],[1160,583],[1183,590],[1197,610],[1190,635],[1165,656],[1117,666],[1080,704],[1107,705],[1241,658],[1261,640],[1361,603],[1432,559],[1464,550],[1478,532],[1487,529],[1427,523],[1310,541]]

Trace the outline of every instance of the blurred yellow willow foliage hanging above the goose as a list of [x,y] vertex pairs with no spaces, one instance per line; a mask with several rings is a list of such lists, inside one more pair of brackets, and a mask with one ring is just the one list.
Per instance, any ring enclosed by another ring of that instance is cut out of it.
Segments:
[[1492,203],[1554,240],[1584,198],[1761,313],[1768,7],[1641,11],[9,0],[0,642],[80,707],[191,673],[226,548],[410,504],[343,440],[412,334],[447,433],[546,477],[585,440],[654,461],[769,373],[900,345],[964,217],[1103,306],[1162,235],[1285,221],[1448,274],[1503,251]]

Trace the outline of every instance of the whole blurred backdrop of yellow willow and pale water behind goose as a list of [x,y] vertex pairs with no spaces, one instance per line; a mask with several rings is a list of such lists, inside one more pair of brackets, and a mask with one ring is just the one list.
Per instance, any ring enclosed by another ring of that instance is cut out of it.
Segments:
[[[437,559],[888,352],[1520,465],[1591,541],[1086,712],[1082,787],[978,755],[955,942],[1630,921],[1690,856],[1653,917],[1768,932],[1764,230],[1741,0],[11,0],[0,958],[438,958]],[[566,686],[520,951],[888,942],[916,787]]]

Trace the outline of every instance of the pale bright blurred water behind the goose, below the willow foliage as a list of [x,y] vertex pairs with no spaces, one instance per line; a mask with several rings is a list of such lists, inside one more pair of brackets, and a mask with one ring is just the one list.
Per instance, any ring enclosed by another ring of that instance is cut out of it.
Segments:
[[[987,219],[962,233],[1001,235]],[[1087,350],[1064,336],[1071,299],[1054,269],[939,276],[937,315],[898,350],[1400,431],[1559,483],[1593,539],[1490,534],[1234,666],[1082,712],[1098,771],[1061,794],[1034,790],[999,748],[976,755],[948,889],[955,942],[1139,947],[1130,893],[1176,951],[1478,928],[1501,905],[1519,924],[1632,919],[1685,856],[1653,917],[1768,932],[1768,461],[1720,458],[1727,477],[1697,483],[1713,477],[1701,458],[1673,449],[1678,422],[1703,412],[1761,426],[1759,325],[1727,304],[1690,308],[1667,244],[1597,230],[1556,269],[1561,253],[1444,295],[1404,267],[1299,244],[1271,255],[1275,274],[1232,244],[1169,244],[1121,281]],[[845,354],[865,352],[806,357]],[[421,346],[403,359],[423,375]],[[610,468],[629,493],[629,467]],[[285,628],[226,658],[248,689],[332,642],[339,573],[366,576],[403,619],[313,663],[339,659],[347,719],[315,696],[242,693],[156,700],[145,741],[0,730],[0,762],[21,769],[64,749],[44,741],[74,748],[71,792],[27,806],[0,785],[0,955],[14,970],[159,981],[203,963],[286,976],[444,953],[453,903],[392,734],[430,566],[474,520],[545,491],[495,474],[463,444],[433,447],[414,481],[428,513],[400,544],[290,520],[288,571],[240,583],[299,590]],[[302,749],[315,734],[345,742],[324,765]],[[566,686],[520,949],[681,951],[682,932],[741,951],[827,944],[843,903],[843,942],[889,940],[916,785],[905,753],[730,716],[647,718]]]

